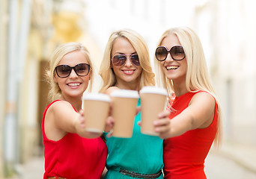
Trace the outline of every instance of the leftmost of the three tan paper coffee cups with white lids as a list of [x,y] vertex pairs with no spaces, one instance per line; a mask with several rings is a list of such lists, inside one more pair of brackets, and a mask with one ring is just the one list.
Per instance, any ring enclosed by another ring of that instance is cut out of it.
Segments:
[[103,133],[106,119],[109,116],[110,101],[109,95],[102,93],[84,95],[85,131],[97,133],[98,136]]

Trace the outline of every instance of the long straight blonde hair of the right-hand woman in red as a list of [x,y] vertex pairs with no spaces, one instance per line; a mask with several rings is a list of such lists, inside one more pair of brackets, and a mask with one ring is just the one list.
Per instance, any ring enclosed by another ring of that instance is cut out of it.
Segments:
[[[213,90],[213,86],[210,82],[210,75],[207,71],[207,64],[204,57],[204,50],[201,45],[201,41],[198,35],[188,27],[170,28],[162,34],[157,46],[162,44],[162,40],[169,35],[176,35],[180,44],[186,54],[187,72],[186,72],[186,90],[189,92],[196,92],[203,90],[209,92],[216,99],[216,94]],[[156,82],[160,87],[164,87],[168,90],[171,96],[174,92],[174,86],[172,81],[165,77],[165,74],[160,66],[160,62],[154,57],[155,70],[156,70]],[[222,140],[222,117],[221,108],[218,104],[218,125],[214,144],[219,146]]]

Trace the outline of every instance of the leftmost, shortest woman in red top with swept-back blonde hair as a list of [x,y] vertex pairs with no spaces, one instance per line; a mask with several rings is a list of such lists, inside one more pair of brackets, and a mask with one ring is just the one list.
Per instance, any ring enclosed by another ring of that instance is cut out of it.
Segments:
[[94,136],[84,132],[84,119],[78,113],[83,92],[89,81],[91,86],[94,75],[88,50],[79,43],[60,45],[52,54],[46,75],[52,103],[43,113],[43,178],[100,178],[106,163],[106,143],[100,137],[87,139]]

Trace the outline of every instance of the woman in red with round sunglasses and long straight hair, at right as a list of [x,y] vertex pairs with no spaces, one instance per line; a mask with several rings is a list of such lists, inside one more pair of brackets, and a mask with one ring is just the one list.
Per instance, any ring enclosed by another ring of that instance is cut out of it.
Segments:
[[174,97],[171,112],[154,123],[165,139],[165,178],[205,179],[204,160],[222,130],[201,42],[190,28],[171,28],[162,34],[155,57],[157,82]]

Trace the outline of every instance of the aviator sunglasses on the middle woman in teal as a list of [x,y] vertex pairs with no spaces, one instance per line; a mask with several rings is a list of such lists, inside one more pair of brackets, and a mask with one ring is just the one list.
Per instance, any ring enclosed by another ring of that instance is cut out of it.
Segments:
[[127,56],[135,66],[141,66],[138,60],[138,54],[118,54],[112,58],[112,63],[115,66],[123,66],[127,61]]

